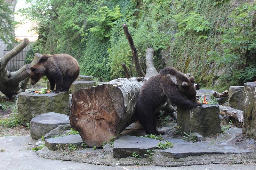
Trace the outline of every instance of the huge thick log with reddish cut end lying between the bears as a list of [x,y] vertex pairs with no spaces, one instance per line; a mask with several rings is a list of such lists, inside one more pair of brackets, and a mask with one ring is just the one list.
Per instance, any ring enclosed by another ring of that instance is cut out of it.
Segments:
[[71,127],[79,131],[89,147],[117,138],[136,119],[135,101],[142,85],[136,77],[119,78],[76,91],[72,96]]

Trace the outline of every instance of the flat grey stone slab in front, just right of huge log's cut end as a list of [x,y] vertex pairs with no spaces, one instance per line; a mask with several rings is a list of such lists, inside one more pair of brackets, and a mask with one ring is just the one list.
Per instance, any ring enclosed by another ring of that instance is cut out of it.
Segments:
[[147,149],[155,149],[159,143],[164,142],[151,138],[121,136],[115,140],[113,156],[120,159],[132,156],[132,152],[135,152],[143,157],[143,154],[147,153]]

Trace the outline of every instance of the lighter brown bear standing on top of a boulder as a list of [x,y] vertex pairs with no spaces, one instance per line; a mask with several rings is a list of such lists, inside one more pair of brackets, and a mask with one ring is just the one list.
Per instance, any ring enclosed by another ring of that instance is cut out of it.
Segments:
[[33,67],[30,67],[30,83],[36,84],[43,76],[50,82],[53,93],[68,92],[71,84],[79,75],[79,65],[68,54],[43,55]]

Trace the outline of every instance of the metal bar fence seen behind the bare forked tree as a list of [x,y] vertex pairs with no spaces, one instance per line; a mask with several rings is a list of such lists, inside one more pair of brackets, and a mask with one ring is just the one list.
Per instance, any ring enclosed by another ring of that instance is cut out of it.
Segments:
[[[19,43],[13,43],[12,45],[4,44],[4,55],[11,51],[15,46],[17,46]],[[33,43],[28,43],[28,45],[15,57],[13,57],[7,64],[6,68],[8,71],[17,71],[22,66],[24,66],[26,54],[28,53],[28,50],[32,47]]]

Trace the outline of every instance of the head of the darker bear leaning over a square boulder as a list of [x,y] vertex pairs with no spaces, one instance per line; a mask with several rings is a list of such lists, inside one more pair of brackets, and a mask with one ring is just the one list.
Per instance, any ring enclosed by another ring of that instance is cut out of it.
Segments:
[[189,80],[188,82],[186,81],[182,82],[182,87],[184,88],[183,95],[186,96],[188,100],[192,102],[197,102],[196,89],[194,87],[195,78],[192,76],[192,77],[189,77],[188,80]]

